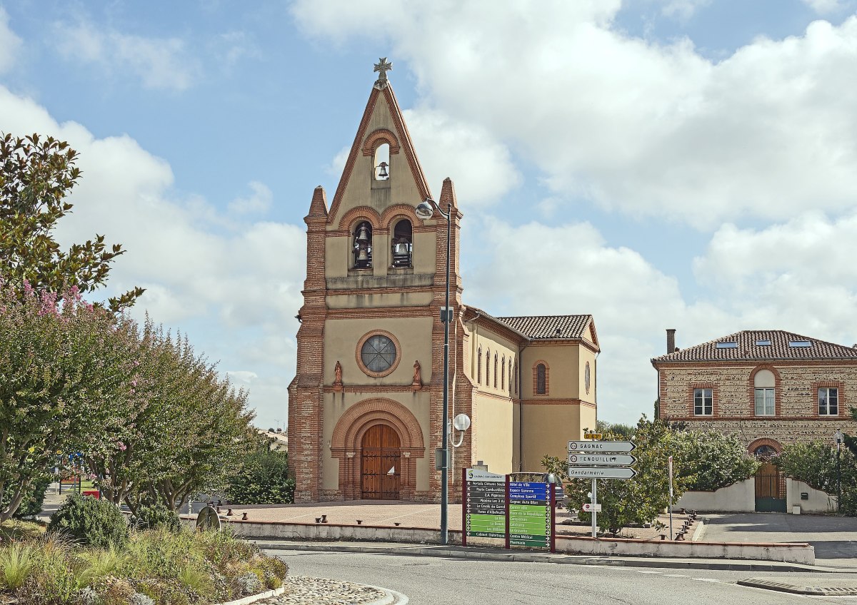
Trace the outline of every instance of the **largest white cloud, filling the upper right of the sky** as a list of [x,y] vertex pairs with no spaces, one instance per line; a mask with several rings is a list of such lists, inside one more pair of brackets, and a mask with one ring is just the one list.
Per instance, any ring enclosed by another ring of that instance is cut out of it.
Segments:
[[712,62],[688,39],[658,44],[614,29],[619,8],[300,0],[294,15],[326,41],[390,39],[423,104],[493,133],[557,197],[699,228],[850,207],[857,16]]

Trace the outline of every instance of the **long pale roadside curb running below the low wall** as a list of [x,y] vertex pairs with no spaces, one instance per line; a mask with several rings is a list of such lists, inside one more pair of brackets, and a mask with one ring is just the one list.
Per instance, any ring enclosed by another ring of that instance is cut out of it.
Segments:
[[[596,557],[586,555],[549,555],[529,552],[497,552],[492,550],[463,550],[440,548],[389,548],[385,546],[352,546],[351,544],[267,543],[255,542],[263,550],[302,550],[322,553],[363,553],[367,555],[431,556],[481,561],[512,561],[518,563],[556,563],[564,565],[662,567],[675,569],[718,569],[746,572],[845,572],[797,563],[769,561],[740,561],[735,559],[700,561],[656,559],[654,557]],[[383,589],[382,589],[383,590]]]

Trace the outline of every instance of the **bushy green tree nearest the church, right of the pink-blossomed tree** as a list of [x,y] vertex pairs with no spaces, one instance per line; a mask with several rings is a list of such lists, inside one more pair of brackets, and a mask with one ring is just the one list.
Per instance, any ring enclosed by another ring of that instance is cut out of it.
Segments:
[[147,322],[142,329],[135,392],[105,452],[87,466],[105,497],[136,511],[141,501],[175,510],[189,496],[220,489],[247,449],[252,413],[247,394],[221,379],[187,340]]

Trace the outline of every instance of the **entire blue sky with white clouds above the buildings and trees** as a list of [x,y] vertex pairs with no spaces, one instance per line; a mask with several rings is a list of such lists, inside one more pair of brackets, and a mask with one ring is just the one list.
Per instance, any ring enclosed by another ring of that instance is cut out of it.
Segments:
[[[251,6],[253,8],[247,8]],[[664,329],[857,342],[857,0],[0,0],[0,131],[84,171],[105,296],[285,426],[305,226],[378,57],[464,212],[464,301],[591,313],[599,417],[651,412]]]

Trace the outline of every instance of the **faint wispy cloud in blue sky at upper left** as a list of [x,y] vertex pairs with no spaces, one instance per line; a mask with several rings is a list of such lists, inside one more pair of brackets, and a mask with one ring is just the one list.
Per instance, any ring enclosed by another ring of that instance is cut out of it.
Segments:
[[201,72],[183,39],[102,30],[82,20],[57,23],[54,33],[57,50],[66,60],[95,63],[111,75],[133,74],[145,88],[183,91]]

